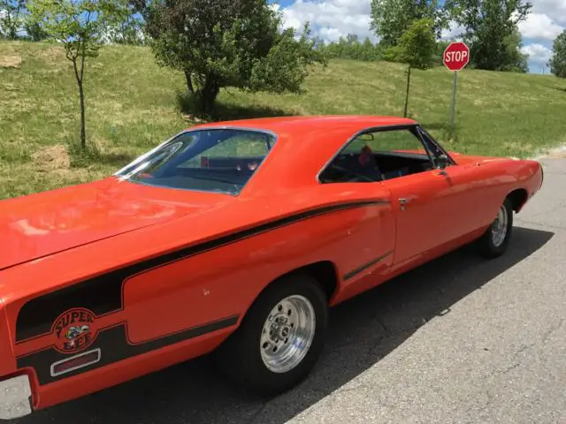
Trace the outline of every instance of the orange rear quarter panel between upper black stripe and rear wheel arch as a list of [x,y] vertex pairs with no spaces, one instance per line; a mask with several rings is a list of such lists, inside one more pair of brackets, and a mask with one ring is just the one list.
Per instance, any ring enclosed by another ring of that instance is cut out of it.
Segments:
[[342,276],[391,249],[390,212],[336,211],[134,276],[124,284],[128,342],[245,314],[267,284],[310,263],[333,261]]

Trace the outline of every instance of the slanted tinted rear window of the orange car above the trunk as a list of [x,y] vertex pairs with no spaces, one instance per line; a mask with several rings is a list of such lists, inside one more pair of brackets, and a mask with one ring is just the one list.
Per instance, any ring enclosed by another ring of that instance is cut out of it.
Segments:
[[238,194],[264,161],[275,136],[253,130],[181,133],[116,174],[149,186]]

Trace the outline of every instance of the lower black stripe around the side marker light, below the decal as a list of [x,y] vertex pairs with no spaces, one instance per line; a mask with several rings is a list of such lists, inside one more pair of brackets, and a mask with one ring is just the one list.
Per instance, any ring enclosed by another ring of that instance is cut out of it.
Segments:
[[106,329],[100,329],[98,331],[95,343],[92,347],[88,348],[100,348],[101,359],[95,364],[76,369],[62,375],[51,376],[51,364],[58,360],[70,358],[69,354],[57,352],[51,347],[19,357],[17,359],[18,367],[33,367],[40,385],[48,384],[50,382],[57,382],[58,380],[72,377],[73,375],[86,373],[93,369],[119,362],[120,360],[126,360],[162,347],[174,345],[191,338],[203,336],[204,334],[211,333],[218,329],[226,329],[235,325],[239,318],[239,315],[230,316],[216,322],[209,322],[198,327],[193,327],[178,333],[150,340],[149,342],[145,342],[140,345],[128,345],[126,322],[121,322],[118,325]]

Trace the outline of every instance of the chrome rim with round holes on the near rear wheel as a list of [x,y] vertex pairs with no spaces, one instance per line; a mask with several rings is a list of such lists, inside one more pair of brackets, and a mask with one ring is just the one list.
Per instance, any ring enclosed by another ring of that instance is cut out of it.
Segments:
[[264,322],[260,352],[265,367],[287,373],[299,365],[315,337],[316,319],[309,299],[293,295],[272,308]]

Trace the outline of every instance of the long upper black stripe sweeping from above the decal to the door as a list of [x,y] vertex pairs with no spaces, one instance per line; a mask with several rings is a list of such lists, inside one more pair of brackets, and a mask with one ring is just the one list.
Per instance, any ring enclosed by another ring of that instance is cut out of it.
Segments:
[[144,261],[115,269],[100,276],[94,276],[71,286],[44,294],[29,300],[19,310],[16,322],[16,343],[42,337],[49,334],[57,316],[73,307],[85,307],[96,316],[119,312],[123,308],[123,283],[136,274],[155,269],[173,261],[180,261],[195,254],[226,246],[242,239],[248,239],[266,231],[272,231],[291,223],[296,223],[314,216],[321,216],[339,210],[364,208],[379,204],[388,204],[386,200],[353,201],[316,208],[292,216],[279,218],[270,223],[263,223],[248,230],[238,231],[218,239],[213,239],[193,246],[184,246],[179,250]]

